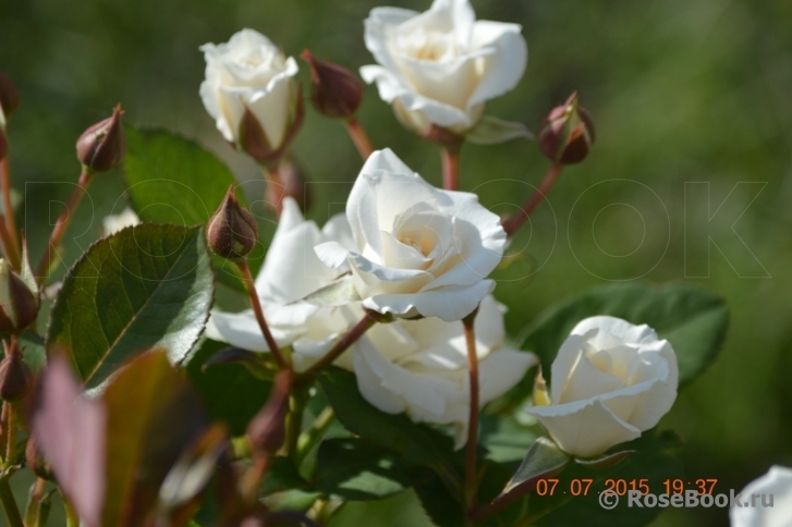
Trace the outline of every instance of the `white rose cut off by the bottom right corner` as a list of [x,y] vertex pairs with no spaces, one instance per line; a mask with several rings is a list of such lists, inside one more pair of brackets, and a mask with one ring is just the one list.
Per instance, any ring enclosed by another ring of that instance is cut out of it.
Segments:
[[[756,499],[753,494],[764,494]],[[732,506],[731,527],[789,527],[792,525],[792,468],[773,466],[740,492],[740,502]]]

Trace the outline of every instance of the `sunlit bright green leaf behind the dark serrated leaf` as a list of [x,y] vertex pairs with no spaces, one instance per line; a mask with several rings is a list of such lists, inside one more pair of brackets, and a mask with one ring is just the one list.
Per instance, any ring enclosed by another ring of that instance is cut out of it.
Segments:
[[143,221],[204,224],[236,184],[228,167],[197,143],[159,128],[126,125],[124,134],[124,181]]

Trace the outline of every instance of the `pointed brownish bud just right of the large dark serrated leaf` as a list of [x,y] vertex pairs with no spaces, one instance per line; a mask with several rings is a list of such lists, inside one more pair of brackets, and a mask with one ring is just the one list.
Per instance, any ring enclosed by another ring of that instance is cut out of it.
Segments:
[[209,218],[206,240],[216,255],[228,259],[244,258],[256,246],[256,220],[240,205],[234,196],[233,185],[229,187],[220,207]]

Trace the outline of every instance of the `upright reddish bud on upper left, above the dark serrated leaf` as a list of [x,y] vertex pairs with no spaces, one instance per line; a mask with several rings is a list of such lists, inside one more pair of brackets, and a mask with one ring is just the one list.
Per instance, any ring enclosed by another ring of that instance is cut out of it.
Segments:
[[113,114],[88,127],[77,139],[77,159],[93,172],[107,172],[115,168],[124,157],[124,130],[121,105]]

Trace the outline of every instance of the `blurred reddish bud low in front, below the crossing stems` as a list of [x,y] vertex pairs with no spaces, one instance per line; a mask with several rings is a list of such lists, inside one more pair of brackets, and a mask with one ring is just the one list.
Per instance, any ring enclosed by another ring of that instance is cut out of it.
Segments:
[[294,373],[291,370],[281,370],[275,380],[269,400],[247,426],[247,442],[254,453],[271,454],[283,445],[289,391],[293,380]]

